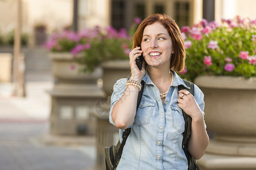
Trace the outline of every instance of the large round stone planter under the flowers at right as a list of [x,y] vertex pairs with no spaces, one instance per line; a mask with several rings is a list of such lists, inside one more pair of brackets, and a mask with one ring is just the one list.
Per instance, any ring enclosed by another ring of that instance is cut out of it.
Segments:
[[205,122],[215,133],[200,169],[256,169],[256,78],[200,76],[195,83],[205,95]]

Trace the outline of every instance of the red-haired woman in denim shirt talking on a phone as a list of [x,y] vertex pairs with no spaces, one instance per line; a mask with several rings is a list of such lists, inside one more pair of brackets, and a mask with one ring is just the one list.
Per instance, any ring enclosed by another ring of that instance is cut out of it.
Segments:
[[[139,70],[135,59],[141,55],[145,62]],[[123,129],[131,127],[117,169],[187,169],[181,147],[181,109],[192,117],[188,151],[195,159],[204,155],[209,137],[204,123],[203,92],[196,85],[195,96],[177,88],[180,84],[185,86],[175,73],[183,70],[185,49],[175,21],[160,14],[144,19],[135,32],[129,57],[131,77],[114,84],[109,116],[110,122],[121,129],[120,141]],[[145,86],[136,111],[141,80]]]

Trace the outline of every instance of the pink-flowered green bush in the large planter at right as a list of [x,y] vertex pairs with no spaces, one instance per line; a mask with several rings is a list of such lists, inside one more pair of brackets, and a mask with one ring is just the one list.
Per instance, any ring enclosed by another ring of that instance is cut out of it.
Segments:
[[223,19],[222,25],[203,20],[181,31],[187,52],[187,70],[181,72],[181,77],[194,80],[199,75],[256,75],[256,20],[237,16]]

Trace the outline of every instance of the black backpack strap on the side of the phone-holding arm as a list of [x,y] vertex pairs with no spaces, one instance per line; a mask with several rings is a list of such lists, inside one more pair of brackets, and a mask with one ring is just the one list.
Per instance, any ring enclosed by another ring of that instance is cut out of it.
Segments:
[[[138,98],[137,98],[137,108],[136,108],[136,110],[139,108],[139,104],[141,103],[141,98],[142,98],[142,94],[143,94],[143,90],[144,90],[144,81],[143,80],[141,81],[141,86],[142,86],[141,91],[139,91]],[[131,128],[127,128],[127,129],[125,129],[125,131],[123,131],[123,135],[122,135],[123,140],[122,140],[120,148],[117,152],[117,156],[115,156],[115,161],[114,161],[114,166],[115,167],[117,167],[118,160],[122,156],[123,147],[125,146],[126,139],[128,138],[130,132],[131,132]]]

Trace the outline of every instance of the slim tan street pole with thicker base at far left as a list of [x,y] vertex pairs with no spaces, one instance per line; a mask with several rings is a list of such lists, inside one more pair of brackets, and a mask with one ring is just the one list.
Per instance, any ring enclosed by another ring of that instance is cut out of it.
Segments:
[[22,0],[17,1],[16,27],[14,36],[13,95],[25,97],[24,55],[20,54],[20,32],[22,27]]

